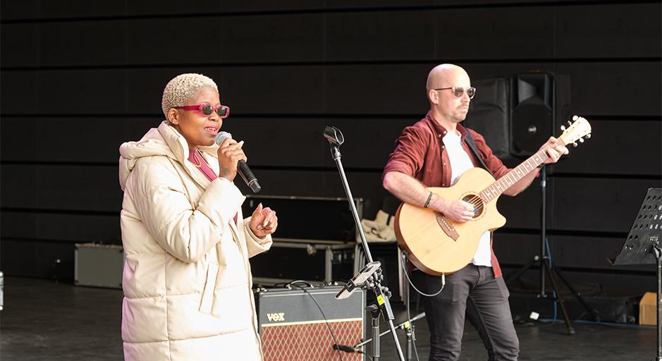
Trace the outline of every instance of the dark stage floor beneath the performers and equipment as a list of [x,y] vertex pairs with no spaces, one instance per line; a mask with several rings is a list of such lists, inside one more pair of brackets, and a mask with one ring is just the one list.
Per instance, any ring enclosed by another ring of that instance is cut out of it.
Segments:
[[[122,360],[121,305],[121,290],[5,278],[0,358]],[[402,303],[393,302],[393,308],[396,323],[404,320]],[[419,360],[427,360],[427,324],[422,319],[415,325]],[[382,321],[381,326],[384,329],[386,324]],[[575,330],[574,336],[568,336],[563,322],[517,325],[520,360],[630,361],[652,360],[656,354],[654,327],[578,323]],[[398,331],[398,338],[404,349],[405,335]],[[486,360],[482,341],[468,324],[460,359]],[[381,338],[381,360],[398,360],[391,336]]]

